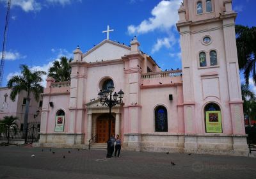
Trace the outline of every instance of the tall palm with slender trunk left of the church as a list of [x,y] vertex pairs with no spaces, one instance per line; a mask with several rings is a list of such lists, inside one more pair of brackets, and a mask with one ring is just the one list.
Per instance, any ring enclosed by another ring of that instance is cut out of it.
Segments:
[[43,91],[43,87],[40,85],[40,82],[43,81],[42,75],[46,75],[44,71],[37,71],[37,70],[29,70],[28,65],[20,65],[21,75],[14,75],[8,81],[8,88],[12,88],[10,93],[10,98],[14,102],[16,96],[21,91],[27,92],[26,98],[26,107],[25,107],[25,114],[24,114],[24,123],[23,123],[23,134],[22,138],[25,139],[26,143],[26,131],[28,125],[28,112],[29,112],[29,101],[30,101],[30,93],[33,93],[36,101],[39,100],[40,93]]

